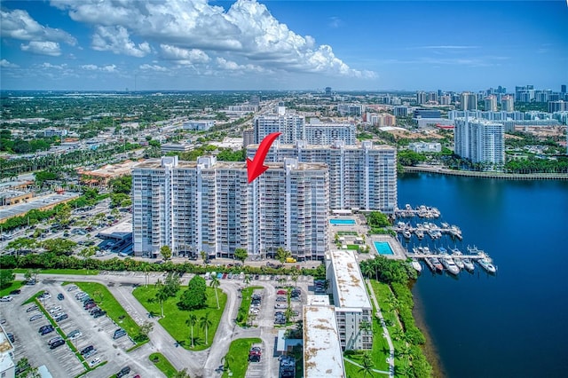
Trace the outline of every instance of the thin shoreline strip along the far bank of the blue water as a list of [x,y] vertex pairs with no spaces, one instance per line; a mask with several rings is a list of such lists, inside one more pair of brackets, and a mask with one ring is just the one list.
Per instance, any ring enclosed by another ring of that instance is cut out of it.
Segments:
[[454,170],[442,167],[417,166],[404,167],[401,173],[436,173],[438,175],[496,178],[501,180],[568,180],[568,173],[502,173],[502,172],[478,172],[473,170]]

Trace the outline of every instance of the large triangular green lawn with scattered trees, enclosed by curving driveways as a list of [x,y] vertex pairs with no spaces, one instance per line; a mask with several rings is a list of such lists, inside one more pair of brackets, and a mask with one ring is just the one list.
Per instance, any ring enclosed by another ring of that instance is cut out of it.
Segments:
[[[191,311],[200,319],[206,312],[209,312],[209,319],[212,322],[211,327],[208,329],[208,341],[205,343],[205,329],[199,326],[193,327],[193,343],[195,348],[191,348],[191,329],[185,324],[185,320],[189,318],[190,311],[179,310],[177,302],[187,287],[182,286],[175,297],[168,298],[163,303],[164,318],[158,320],[162,327],[168,331],[177,343],[187,350],[205,350],[209,348],[215,337],[215,332],[219,326],[219,321],[225,310],[225,303],[227,302],[227,295],[218,289],[219,307],[217,310],[217,301],[215,299],[215,290],[212,287],[207,287],[207,306],[201,310]],[[154,286],[137,287],[132,294],[138,299],[148,312],[153,313],[154,316],[160,316],[160,303],[155,300],[155,295],[158,290]]]

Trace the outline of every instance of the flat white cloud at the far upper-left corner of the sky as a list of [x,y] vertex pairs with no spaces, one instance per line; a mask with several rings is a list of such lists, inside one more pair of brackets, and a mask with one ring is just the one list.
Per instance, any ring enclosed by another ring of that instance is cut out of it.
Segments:
[[16,9],[14,11],[0,11],[2,16],[1,34],[23,41],[59,41],[75,46],[77,40],[66,31],[44,27],[32,19],[28,12]]

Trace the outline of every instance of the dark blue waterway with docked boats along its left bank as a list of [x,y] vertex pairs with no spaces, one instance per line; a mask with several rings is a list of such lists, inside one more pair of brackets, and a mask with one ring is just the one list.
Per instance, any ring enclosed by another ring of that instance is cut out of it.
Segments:
[[[398,202],[437,207],[438,224],[461,227],[457,247],[484,249],[499,269],[490,276],[476,264],[458,279],[424,269],[414,285],[445,375],[566,376],[568,181],[407,173],[398,178]],[[444,236],[437,245],[454,241]]]

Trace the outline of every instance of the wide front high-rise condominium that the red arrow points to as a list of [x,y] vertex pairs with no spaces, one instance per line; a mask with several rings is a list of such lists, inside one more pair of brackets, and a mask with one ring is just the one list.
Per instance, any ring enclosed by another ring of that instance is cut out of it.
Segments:
[[298,260],[327,251],[327,167],[286,159],[248,184],[243,162],[197,162],[177,156],[150,159],[132,169],[135,256],[273,256],[285,248]]

